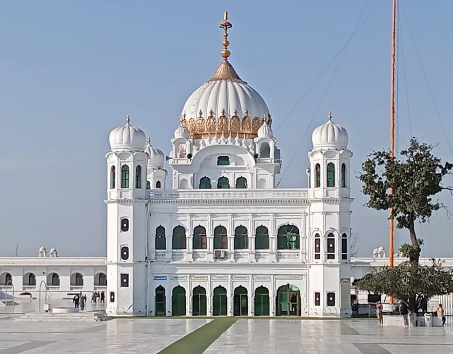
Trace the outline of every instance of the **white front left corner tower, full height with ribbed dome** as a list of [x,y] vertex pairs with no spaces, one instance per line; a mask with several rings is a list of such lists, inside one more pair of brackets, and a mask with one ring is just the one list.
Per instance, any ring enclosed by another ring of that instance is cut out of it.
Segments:
[[130,124],[111,131],[107,153],[107,314],[145,316],[148,155],[143,130]]

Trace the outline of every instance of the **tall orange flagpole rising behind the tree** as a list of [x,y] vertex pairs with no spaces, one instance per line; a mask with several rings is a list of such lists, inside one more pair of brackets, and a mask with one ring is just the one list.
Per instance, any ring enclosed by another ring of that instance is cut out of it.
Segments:
[[[392,13],[392,79],[390,90],[390,156],[395,156],[395,56],[396,56],[396,0],[393,0],[393,13]],[[390,194],[393,194],[393,187],[390,188]],[[390,209],[390,216],[393,214],[393,208]],[[390,249],[389,249],[389,266],[394,267],[394,218],[390,218]],[[390,297],[390,303],[394,303],[394,298]]]

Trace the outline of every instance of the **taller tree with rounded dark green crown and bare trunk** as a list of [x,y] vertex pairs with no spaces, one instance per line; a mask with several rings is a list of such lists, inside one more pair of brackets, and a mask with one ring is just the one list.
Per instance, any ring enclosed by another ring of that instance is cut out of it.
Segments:
[[[415,233],[415,221],[426,223],[443,205],[433,201],[442,190],[443,178],[453,165],[433,154],[434,147],[412,138],[409,147],[400,152],[398,160],[390,151],[374,151],[362,164],[360,181],[363,193],[369,197],[366,204],[375,210],[391,210],[389,218],[396,220],[396,227],[408,229],[411,243],[403,244],[400,253],[409,261],[418,263],[423,240]],[[393,194],[391,193],[393,188]]]

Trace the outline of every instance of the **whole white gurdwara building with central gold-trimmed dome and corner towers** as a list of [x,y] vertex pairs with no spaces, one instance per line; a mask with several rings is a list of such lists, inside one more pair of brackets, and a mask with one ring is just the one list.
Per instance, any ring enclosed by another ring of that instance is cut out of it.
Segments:
[[110,133],[107,306],[113,316],[351,315],[348,133],[312,135],[309,187],[276,188],[281,155],[264,99],[224,46],[185,103],[168,164],[143,130]]

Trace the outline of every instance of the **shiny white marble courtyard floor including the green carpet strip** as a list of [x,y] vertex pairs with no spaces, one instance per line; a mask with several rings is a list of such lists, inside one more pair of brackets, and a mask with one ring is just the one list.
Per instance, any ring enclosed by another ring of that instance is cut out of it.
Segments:
[[209,340],[203,353],[453,353],[453,327],[379,327],[369,320],[235,320],[118,318],[106,322],[22,322],[0,317],[0,354],[200,354],[199,346],[198,351],[192,348],[209,335],[214,339],[219,331],[224,332],[211,345]]

